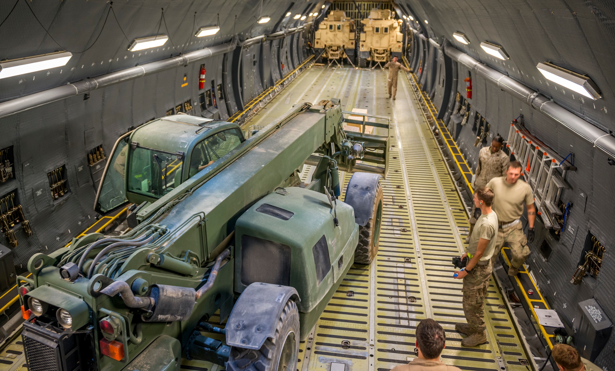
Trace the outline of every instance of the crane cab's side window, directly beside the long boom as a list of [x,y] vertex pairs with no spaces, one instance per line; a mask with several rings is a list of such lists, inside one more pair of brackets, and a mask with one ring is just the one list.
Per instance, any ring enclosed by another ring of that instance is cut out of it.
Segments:
[[194,177],[200,170],[213,164],[244,141],[238,129],[229,129],[205,138],[194,147],[190,157],[189,177]]

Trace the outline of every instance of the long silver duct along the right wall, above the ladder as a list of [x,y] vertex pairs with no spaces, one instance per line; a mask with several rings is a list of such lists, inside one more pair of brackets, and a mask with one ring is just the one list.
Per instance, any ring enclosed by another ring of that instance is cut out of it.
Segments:
[[453,60],[462,63],[462,65],[483,76],[483,78],[497,85],[500,89],[510,93],[519,100],[525,101],[533,108],[536,108],[536,110],[541,111],[567,129],[593,143],[595,147],[605,151],[609,156],[615,157],[615,137],[613,135],[598,129],[598,127],[593,126],[590,122],[552,102],[549,98],[530,89],[521,82],[494,70],[490,66],[485,65],[485,63],[478,62],[478,60],[475,60],[456,47],[447,44],[444,47],[444,52]]

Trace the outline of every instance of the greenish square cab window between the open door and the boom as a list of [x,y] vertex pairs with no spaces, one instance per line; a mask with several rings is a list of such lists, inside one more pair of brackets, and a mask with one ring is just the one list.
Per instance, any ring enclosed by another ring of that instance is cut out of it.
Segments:
[[177,153],[137,146],[129,166],[131,192],[160,198],[181,184],[183,161]]

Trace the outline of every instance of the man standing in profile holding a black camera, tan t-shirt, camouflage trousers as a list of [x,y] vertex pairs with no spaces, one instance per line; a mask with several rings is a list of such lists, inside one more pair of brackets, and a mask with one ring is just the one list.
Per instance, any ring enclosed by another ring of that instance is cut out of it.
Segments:
[[456,279],[463,279],[463,312],[467,323],[455,324],[455,330],[466,333],[468,337],[461,340],[463,346],[477,346],[487,341],[485,332],[485,297],[489,279],[493,272],[491,255],[496,247],[498,235],[498,215],[491,210],[493,191],[483,187],[474,193],[474,205],[480,208],[481,215],[476,221],[470,244],[461,260],[468,257],[466,268],[456,271]]

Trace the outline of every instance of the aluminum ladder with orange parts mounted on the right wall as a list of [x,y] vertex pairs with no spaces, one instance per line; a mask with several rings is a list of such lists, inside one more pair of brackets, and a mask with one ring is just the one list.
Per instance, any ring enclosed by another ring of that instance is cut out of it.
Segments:
[[561,158],[523,129],[517,119],[510,123],[506,146],[515,160],[523,165],[523,177],[532,188],[538,213],[542,216],[546,228],[560,230],[561,226],[555,215],[562,215],[558,205],[561,190],[570,188],[565,180],[566,172],[576,170],[576,167],[566,162],[572,153],[566,156],[566,159]]

